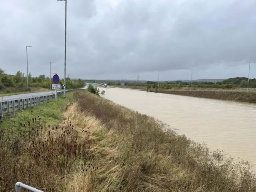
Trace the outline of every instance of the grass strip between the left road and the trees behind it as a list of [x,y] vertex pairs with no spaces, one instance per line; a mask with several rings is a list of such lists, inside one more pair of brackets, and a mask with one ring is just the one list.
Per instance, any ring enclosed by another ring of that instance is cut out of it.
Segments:
[[36,87],[32,87],[32,88],[9,87],[9,88],[6,88],[5,90],[0,91],[0,97],[25,94],[25,93],[44,92],[44,91],[50,91],[50,90],[46,88],[36,88]]

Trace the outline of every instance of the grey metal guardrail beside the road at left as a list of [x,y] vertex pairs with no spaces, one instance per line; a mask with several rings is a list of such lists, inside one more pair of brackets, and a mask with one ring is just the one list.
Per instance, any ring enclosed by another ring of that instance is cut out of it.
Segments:
[[[66,92],[70,92],[74,90],[66,90]],[[57,92],[57,95],[63,94],[63,91]],[[28,96],[27,98],[22,99],[13,99],[13,100],[6,100],[0,102],[0,117],[3,117],[4,112],[15,112],[16,110],[21,110],[27,107],[40,105],[48,100],[55,99],[55,93],[48,94],[44,96],[37,96],[32,97]]]

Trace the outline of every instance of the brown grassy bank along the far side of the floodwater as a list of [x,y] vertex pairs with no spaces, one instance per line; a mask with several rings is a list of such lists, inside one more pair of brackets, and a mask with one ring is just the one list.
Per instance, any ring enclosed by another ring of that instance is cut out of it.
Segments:
[[238,102],[248,102],[256,103],[256,92],[246,92],[246,91],[181,91],[181,90],[159,90],[159,93],[192,96],[208,99],[218,99],[218,100],[228,100],[228,101],[238,101]]

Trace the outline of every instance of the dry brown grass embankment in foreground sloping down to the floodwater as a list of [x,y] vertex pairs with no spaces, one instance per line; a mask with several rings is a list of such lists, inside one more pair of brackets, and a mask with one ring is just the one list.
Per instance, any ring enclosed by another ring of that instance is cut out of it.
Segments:
[[74,94],[60,125],[41,117],[29,125],[16,119],[0,133],[0,191],[16,181],[65,192],[256,191],[249,166],[223,162],[220,152],[86,90]]

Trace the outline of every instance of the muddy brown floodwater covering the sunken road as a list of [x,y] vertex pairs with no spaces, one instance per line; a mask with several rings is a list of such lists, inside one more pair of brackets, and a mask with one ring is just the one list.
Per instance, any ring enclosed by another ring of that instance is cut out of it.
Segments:
[[105,98],[154,116],[210,150],[224,150],[248,160],[256,171],[256,105],[147,93],[121,88],[104,89]]

